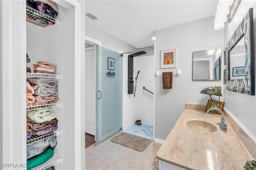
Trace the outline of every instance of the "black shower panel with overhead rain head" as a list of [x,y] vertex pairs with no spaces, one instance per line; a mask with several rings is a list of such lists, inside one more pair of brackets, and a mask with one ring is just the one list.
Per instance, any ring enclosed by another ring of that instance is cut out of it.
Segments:
[[145,51],[128,55],[128,94],[133,94],[133,57],[146,54]]

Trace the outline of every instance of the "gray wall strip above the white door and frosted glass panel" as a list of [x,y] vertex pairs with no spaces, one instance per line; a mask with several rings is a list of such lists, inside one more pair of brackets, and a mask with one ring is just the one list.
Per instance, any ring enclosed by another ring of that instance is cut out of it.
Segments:
[[122,40],[100,30],[88,22],[85,22],[85,35],[102,42],[102,47],[118,53],[119,50],[124,52],[137,50],[132,45],[129,45],[128,43],[123,42]]

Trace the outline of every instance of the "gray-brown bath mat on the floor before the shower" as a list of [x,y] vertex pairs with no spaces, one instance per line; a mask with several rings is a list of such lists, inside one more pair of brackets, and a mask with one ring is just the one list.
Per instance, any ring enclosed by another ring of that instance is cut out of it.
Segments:
[[128,148],[132,148],[134,150],[138,150],[143,152],[146,148],[151,144],[152,140],[147,138],[142,138],[140,136],[136,136],[129,133],[120,133],[114,138],[110,139],[111,142],[121,144]]

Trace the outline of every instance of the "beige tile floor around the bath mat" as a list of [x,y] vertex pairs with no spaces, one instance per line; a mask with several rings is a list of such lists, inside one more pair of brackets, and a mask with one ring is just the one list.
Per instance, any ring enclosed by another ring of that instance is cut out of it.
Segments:
[[[120,132],[119,132],[120,133]],[[114,136],[118,135],[115,134]],[[111,142],[108,138],[85,149],[86,170],[158,170],[156,153],[161,144],[154,141],[144,152]]]

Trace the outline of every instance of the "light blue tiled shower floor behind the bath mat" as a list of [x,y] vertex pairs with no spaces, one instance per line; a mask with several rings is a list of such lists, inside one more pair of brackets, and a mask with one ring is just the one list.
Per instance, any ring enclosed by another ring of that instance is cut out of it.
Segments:
[[147,125],[142,123],[142,125],[140,126],[134,124],[130,127],[123,129],[122,131],[153,140],[153,125]]

